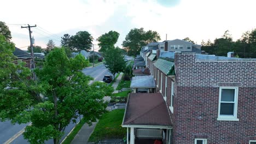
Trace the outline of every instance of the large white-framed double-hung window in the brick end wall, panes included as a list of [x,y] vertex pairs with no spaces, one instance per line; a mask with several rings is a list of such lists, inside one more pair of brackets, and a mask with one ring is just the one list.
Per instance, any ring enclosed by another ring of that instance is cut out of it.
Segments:
[[239,121],[237,119],[238,87],[219,88],[219,121]]

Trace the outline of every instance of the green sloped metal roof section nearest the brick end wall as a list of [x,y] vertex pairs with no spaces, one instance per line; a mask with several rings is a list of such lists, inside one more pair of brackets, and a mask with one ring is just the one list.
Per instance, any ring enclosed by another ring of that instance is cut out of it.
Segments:
[[175,75],[174,63],[166,61],[165,59],[158,58],[154,63],[155,67],[165,73],[166,75]]

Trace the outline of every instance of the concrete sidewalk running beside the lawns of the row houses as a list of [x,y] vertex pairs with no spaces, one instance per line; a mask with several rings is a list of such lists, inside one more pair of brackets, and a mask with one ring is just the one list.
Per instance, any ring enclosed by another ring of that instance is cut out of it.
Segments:
[[[118,83],[120,82],[122,78],[123,73],[121,73],[118,77],[117,80],[113,83],[112,87],[114,89],[117,88]],[[118,91],[114,91],[113,93],[118,93]],[[110,100],[110,97],[104,97],[104,101]],[[84,124],[83,127],[78,131],[77,135],[74,137],[73,141],[71,143],[73,144],[92,144],[94,142],[88,142],[89,137],[91,136],[92,132],[94,131],[94,128],[96,126],[97,122],[92,123],[92,125],[89,127],[88,124]]]

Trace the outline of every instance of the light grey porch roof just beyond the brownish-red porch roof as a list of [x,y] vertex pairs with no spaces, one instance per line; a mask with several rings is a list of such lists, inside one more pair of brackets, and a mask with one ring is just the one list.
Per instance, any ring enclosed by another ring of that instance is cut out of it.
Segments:
[[155,88],[155,80],[152,75],[135,76],[131,80],[131,88]]

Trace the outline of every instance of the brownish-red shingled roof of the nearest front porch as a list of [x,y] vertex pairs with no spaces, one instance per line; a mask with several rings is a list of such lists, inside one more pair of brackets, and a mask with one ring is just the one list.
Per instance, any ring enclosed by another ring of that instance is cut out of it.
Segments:
[[130,93],[123,125],[171,127],[170,113],[160,93]]

